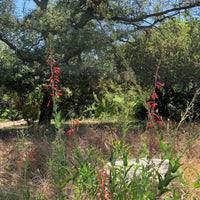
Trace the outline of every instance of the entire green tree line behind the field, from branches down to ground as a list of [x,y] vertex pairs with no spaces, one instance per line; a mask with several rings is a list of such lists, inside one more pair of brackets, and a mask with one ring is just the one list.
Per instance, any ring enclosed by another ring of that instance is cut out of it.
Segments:
[[[14,0],[0,2],[1,118],[50,120],[44,88],[50,35],[61,67],[64,119],[99,117],[106,110],[114,116],[127,94],[137,103],[134,116],[141,117],[143,105],[134,84],[124,90],[124,76],[134,72],[148,94],[159,62],[163,117],[178,119],[199,88],[199,1],[33,1],[36,8],[23,17]],[[195,106],[197,111],[199,100]],[[198,112],[191,115],[198,118]]]

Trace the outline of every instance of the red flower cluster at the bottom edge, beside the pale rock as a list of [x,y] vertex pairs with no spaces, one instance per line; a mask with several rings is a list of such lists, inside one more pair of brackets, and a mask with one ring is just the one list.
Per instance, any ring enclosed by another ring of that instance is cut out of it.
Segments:
[[[115,168],[114,167],[110,167],[110,169],[115,169]],[[98,192],[97,192],[97,194],[99,194],[98,200],[102,197],[102,195],[103,195],[103,198],[106,199],[106,193],[111,198],[110,192],[108,190],[106,190],[106,187],[105,187],[106,178],[110,177],[110,175],[105,173],[104,171],[105,170],[102,169],[100,171],[100,175],[97,177],[97,179],[100,179],[103,176],[103,180],[102,180],[101,186],[99,187]],[[103,190],[103,193],[100,192],[101,190]]]

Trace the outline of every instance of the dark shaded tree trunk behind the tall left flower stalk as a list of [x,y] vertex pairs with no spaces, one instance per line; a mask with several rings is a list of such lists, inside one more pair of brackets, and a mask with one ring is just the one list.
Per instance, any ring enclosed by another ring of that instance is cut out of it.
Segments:
[[[49,104],[50,101],[50,104]],[[49,106],[47,106],[49,104]],[[53,113],[53,101],[50,94],[44,94],[42,105],[40,108],[39,124],[50,124]]]

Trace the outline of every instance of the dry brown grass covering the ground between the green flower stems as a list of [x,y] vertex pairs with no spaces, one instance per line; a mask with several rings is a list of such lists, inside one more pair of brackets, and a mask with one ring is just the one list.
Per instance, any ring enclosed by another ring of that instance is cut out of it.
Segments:
[[[80,131],[76,135],[77,144],[84,152],[85,145],[94,146],[98,152],[103,155],[107,155],[110,151],[111,138],[116,141],[121,140],[122,135],[115,123],[103,124],[95,121],[82,122],[80,126]],[[65,129],[68,130],[68,125],[66,123]],[[175,124],[172,122],[166,122],[169,131],[166,132],[165,129],[161,128],[160,132],[163,132],[165,141],[168,143],[171,141],[171,135],[174,131]],[[173,140],[176,144],[175,154],[178,154],[182,149],[185,148],[188,138],[197,130],[199,123],[194,124],[192,127],[189,124],[183,125],[178,131],[178,134]],[[0,133],[1,135],[5,131],[19,131],[24,128],[24,123],[22,122],[0,122]],[[127,145],[132,145],[129,150],[131,157],[134,157],[138,153],[141,145],[141,135],[144,133],[142,128],[134,128],[127,133],[126,141]],[[0,139],[0,194],[5,195],[5,199],[15,199],[13,196],[8,194],[15,194],[20,196],[20,189],[23,188],[23,170],[21,167],[17,166],[19,155],[22,153],[22,146],[27,151],[35,152],[34,158],[36,162],[32,162],[28,169],[28,185],[30,186],[30,191],[32,195],[40,192],[46,199],[51,199],[55,194],[56,190],[51,182],[50,171],[48,170],[48,159],[52,157],[52,141],[55,138],[53,133],[53,128],[51,127],[38,127],[34,126],[29,129],[29,137],[26,140],[18,138],[17,134],[12,135],[12,137],[7,137]],[[74,143],[72,137],[66,135],[67,138],[67,157],[69,158],[69,164],[73,160],[71,150],[74,148]],[[200,173],[200,134],[196,140],[191,144],[191,147],[183,156],[181,161],[184,163],[183,169],[187,166],[187,170],[184,173],[184,178],[189,184],[187,188],[181,190],[181,193],[185,195],[187,191],[193,190],[193,184],[197,180],[197,175],[194,168]],[[153,155],[157,157],[160,152],[159,143],[155,139],[153,145]],[[106,162],[106,161],[105,161]],[[102,163],[103,166],[103,163]],[[72,185],[67,185],[65,188],[68,194],[73,195]],[[196,192],[193,196],[197,198],[200,196],[200,192]],[[73,198],[71,198],[73,199]],[[188,199],[191,199],[188,198]]]

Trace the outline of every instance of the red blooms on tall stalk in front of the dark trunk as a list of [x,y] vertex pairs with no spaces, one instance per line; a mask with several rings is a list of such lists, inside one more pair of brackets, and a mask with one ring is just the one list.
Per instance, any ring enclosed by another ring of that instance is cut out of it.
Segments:
[[[58,79],[58,75],[60,74],[60,67],[55,67],[56,61],[54,59],[47,59],[46,60],[47,65],[50,65],[51,67],[51,76],[49,78],[49,85],[45,85],[45,88],[51,87],[51,96],[54,97],[56,95],[61,96],[62,90],[57,90],[58,83],[60,83],[60,80]],[[49,100],[47,107],[50,105],[51,100]]]

